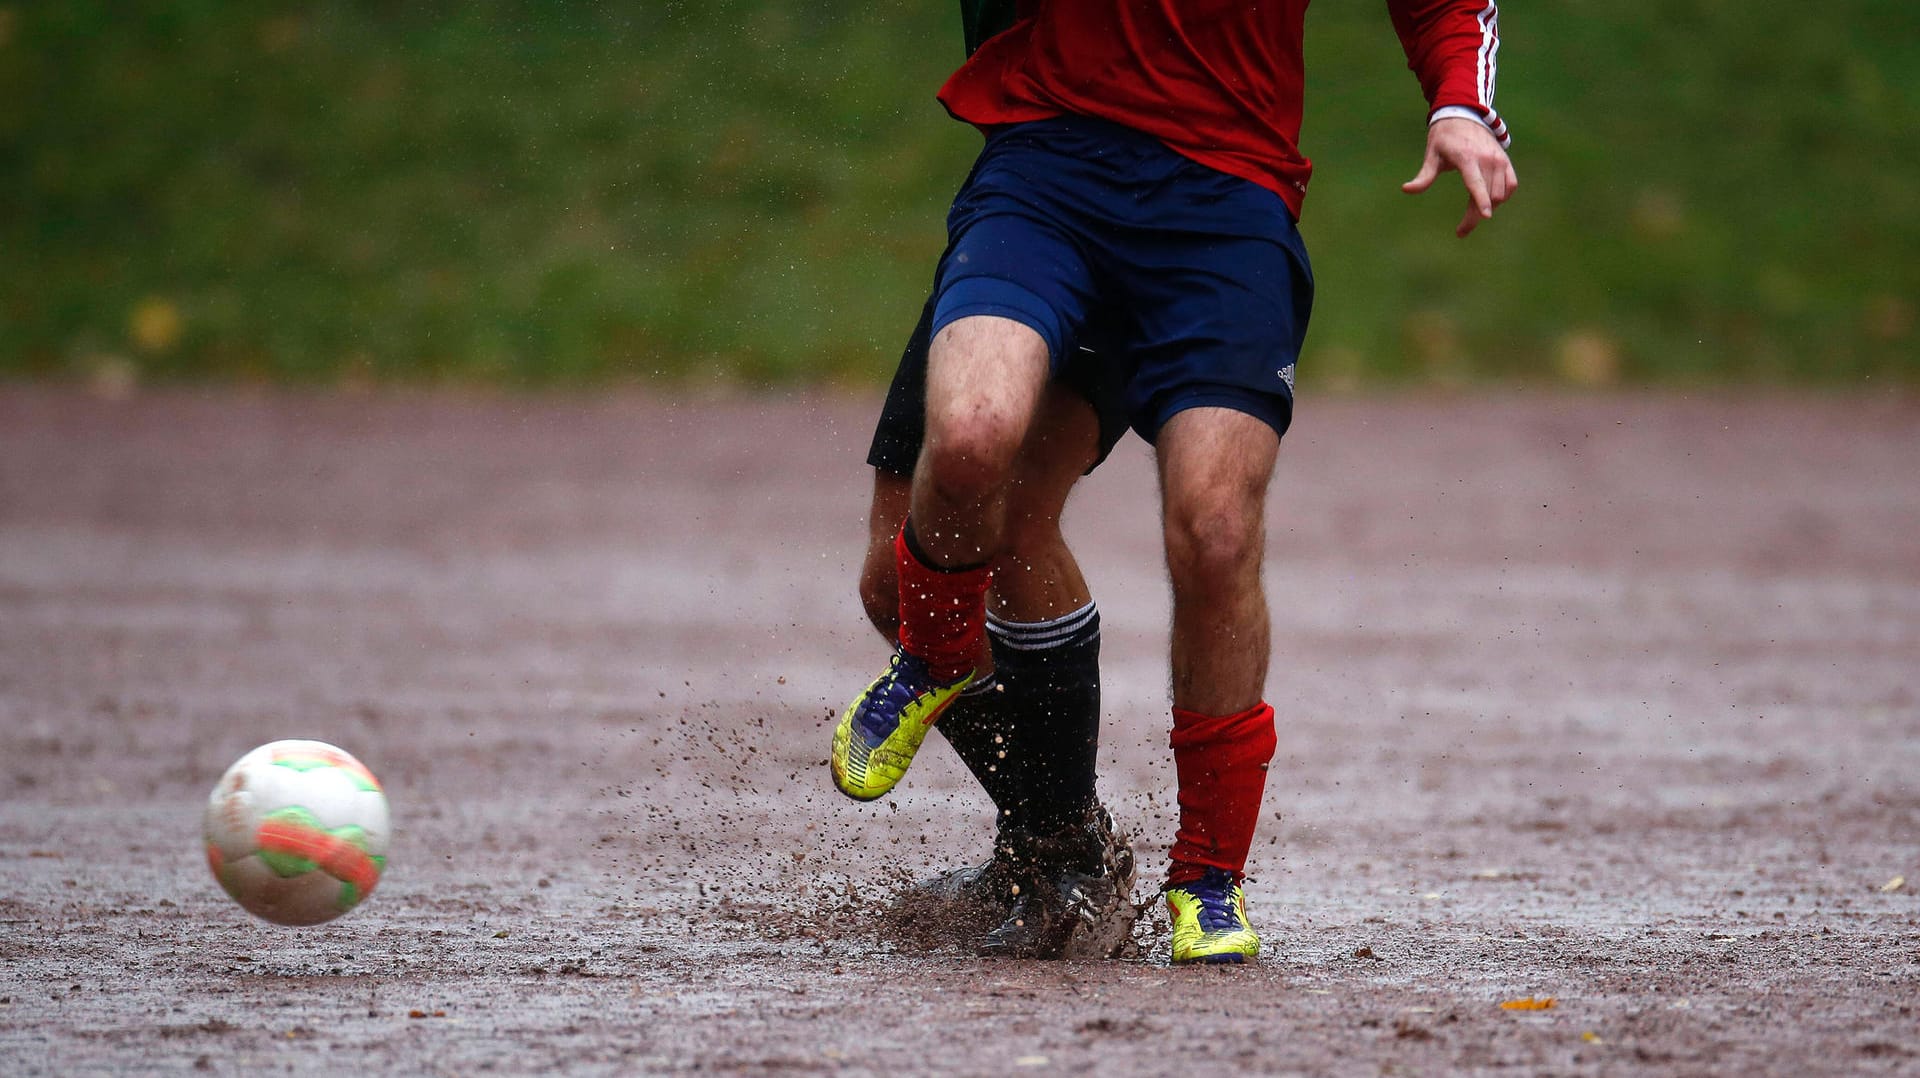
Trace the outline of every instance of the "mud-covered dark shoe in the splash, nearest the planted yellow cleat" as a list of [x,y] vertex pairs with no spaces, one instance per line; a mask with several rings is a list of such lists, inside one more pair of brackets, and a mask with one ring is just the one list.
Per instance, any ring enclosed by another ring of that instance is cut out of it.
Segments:
[[1133,847],[1106,809],[1060,834],[1012,836],[1014,901],[979,940],[981,955],[1106,959],[1133,938]]

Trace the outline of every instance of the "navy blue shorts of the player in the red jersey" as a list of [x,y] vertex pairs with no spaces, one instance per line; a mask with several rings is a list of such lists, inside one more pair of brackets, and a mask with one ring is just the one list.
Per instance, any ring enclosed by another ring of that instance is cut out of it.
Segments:
[[1054,371],[1089,327],[1127,363],[1127,419],[1231,407],[1284,434],[1313,271],[1279,194],[1089,117],[995,129],[947,215],[933,332],[1031,327]]

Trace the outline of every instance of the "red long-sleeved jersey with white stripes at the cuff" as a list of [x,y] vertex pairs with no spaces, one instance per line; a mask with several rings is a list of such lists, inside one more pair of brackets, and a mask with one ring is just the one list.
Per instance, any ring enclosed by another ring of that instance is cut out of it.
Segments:
[[[1494,111],[1494,0],[1386,0],[1428,115],[1467,110],[1507,144]],[[1077,113],[1165,142],[1277,192],[1300,215],[1308,0],[1031,0],[941,86],[941,104],[989,127]]]

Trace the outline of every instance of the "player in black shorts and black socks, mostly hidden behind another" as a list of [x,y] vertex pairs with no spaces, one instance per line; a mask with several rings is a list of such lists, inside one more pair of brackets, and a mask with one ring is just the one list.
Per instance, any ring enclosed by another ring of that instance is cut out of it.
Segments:
[[[874,430],[874,502],[860,600],[887,640],[899,634],[895,538],[920,455],[933,302],[900,355]],[[1104,957],[1133,930],[1133,849],[1094,794],[1100,742],[1100,615],[1060,534],[1081,475],[1127,432],[1125,369],[1079,352],[1043,392],[1014,465],[1008,530],[989,594],[989,663],[939,730],[995,805],[985,865],[947,872],[916,899],[960,903],[952,922],[989,915],[989,955]]]

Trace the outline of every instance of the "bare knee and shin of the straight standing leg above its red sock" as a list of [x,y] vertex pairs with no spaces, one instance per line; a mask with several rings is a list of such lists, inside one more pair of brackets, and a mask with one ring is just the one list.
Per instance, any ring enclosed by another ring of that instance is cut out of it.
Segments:
[[1173,705],[1233,715],[1267,684],[1267,482],[1271,427],[1225,407],[1177,413],[1160,432],[1160,498],[1173,578]]

